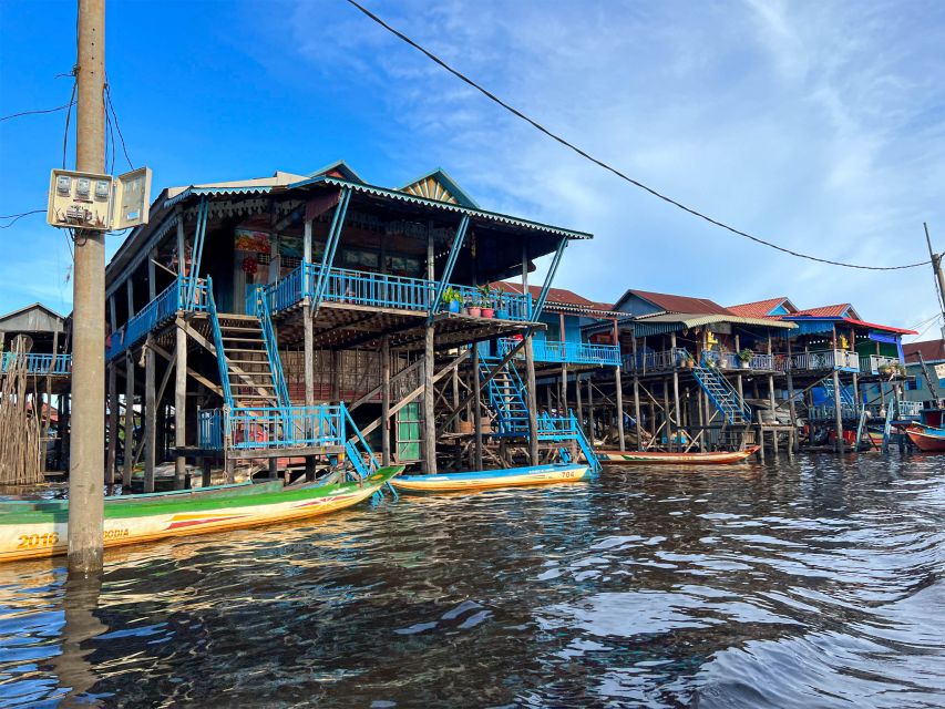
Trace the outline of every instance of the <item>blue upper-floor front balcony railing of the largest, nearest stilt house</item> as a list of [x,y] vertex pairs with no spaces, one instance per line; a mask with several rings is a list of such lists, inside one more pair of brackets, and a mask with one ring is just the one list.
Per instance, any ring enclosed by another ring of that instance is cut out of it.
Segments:
[[[274,314],[291,308],[304,298],[315,298],[320,264],[302,264],[291,274],[266,288],[269,308]],[[359,306],[362,308],[389,308],[417,314],[430,311],[436,296],[438,281],[403,276],[387,276],[368,271],[330,268],[326,274],[323,302]],[[528,321],[532,317],[532,296],[492,291],[484,298],[472,286],[451,287],[459,292],[463,304],[492,308],[496,317],[505,320]],[[484,301],[484,302],[483,302]],[[441,306],[445,310],[445,305]]]

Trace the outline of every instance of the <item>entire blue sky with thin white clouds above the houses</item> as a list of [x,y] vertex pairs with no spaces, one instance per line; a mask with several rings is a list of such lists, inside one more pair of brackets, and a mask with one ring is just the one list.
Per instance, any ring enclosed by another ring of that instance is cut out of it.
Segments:
[[[739,228],[884,265],[925,257],[927,220],[945,250],[945,3],[366,3],[549,129]],[[0,114],[68,101],[55,75],[74,63],[74,2],[0,2]],[[442,166],[487,208],[594,233],[556,280],[589,298],[787,295],[906,327],[937,310],[927,268],[801,261],[677,212],[342,0],[112,0],[106,41],[129,152],[154,169],[155,194],[337,158],[381,185]],[[0,214],[44,207],[64,117],[0,123]],[[0,309],[40,299],[68,311],[63,235],[35,216],[0,236]]]

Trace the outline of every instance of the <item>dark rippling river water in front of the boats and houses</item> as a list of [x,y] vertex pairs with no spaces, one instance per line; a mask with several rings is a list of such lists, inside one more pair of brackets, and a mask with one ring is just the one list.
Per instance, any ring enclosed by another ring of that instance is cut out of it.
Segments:
[[945,706],[945,458],[607,469],[0,567],[0,705]]

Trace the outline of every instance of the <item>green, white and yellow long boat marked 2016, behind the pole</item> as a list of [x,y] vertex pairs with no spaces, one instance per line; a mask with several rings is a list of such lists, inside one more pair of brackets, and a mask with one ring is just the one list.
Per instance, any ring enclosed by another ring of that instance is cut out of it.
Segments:
[[[337,484],[283,487],[276,482],[213,494],[111,499],[104,506],[105,547],[327,514],[367,500],[402,470],[382,467],[364,480]],[[68,501],[0,503],[0,562],[64,554],[68,535]]]

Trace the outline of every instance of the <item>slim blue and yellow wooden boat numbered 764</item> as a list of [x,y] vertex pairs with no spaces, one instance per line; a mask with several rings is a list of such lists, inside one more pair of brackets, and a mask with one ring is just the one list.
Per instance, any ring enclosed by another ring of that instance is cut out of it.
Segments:
[[434,475],[398,475],[390,481],[397,490],[410,492],[452,492],[458,490],[487,490],[518,485],[543,485],[574,482],[592,476],[586,463],[554,463],[509,467],[506,470],[472,471],[465,473],[436,473]]

